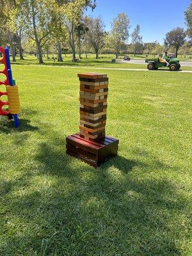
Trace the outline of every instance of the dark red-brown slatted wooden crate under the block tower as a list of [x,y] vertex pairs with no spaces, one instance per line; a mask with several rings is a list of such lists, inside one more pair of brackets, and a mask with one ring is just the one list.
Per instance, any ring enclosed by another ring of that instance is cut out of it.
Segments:
[[89,141],[80,137],[79,133],[66,138],[66,152],[97,168],[110,157],[117,155],[118,140],[105,136],[98,141]]

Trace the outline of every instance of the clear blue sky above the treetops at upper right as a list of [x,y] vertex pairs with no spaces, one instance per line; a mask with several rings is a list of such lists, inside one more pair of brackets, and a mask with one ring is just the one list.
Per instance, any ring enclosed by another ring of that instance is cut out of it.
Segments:
[[[140,25],[143,42],[158,41],[163,44],[166,33],[177,26],[186,28],[184,11],[190,0],[96,0],[97,7],[86,14],[101,17],[106,31],[111,28],[111,21],[120,12],[127,13],[131,29]],[[130,42],[129,38],[129,42]]]

